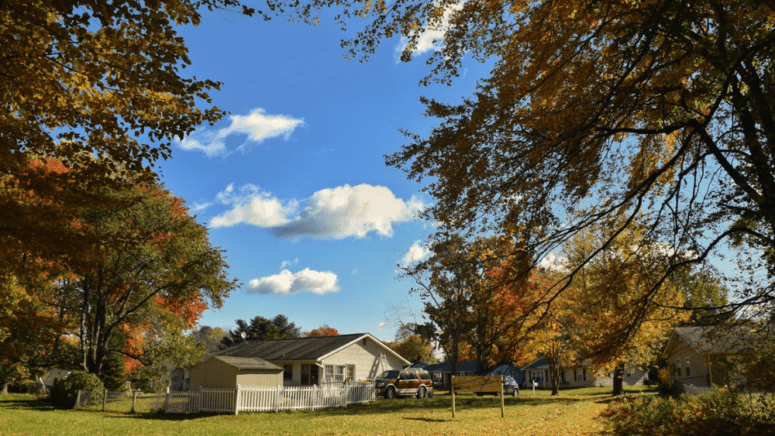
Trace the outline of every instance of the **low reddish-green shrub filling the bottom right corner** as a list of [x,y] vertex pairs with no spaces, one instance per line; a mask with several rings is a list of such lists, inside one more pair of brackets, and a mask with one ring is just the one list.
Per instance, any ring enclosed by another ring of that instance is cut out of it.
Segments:
[[612,404],[602,414],[612,435],[775,435],[775,407],[768,394],[718,389],[678,399],[644,397]]

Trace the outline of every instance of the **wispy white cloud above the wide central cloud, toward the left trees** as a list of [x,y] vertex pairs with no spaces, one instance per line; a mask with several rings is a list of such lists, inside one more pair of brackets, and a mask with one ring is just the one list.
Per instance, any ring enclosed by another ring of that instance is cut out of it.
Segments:
[[247,115],[231,115],[231,124],[217,130],[199,130],[179,142],[184,150],[200,150],[208,156],[229,154],[226,138],[231,135],[246,136],[237,151],[247,152],[254,145],[267,139],[283,137],[288,139],[293,131],[304,124],[303,119],[286,115],[269,115],[261,108],[253,109]]

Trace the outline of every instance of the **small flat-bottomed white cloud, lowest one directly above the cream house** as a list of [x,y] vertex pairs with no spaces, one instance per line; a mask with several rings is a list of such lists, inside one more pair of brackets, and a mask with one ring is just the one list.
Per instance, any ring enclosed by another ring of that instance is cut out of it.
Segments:
[[249,283],[248,293],[262,295],[292,295],[299,292],[311,292],[317,295],[337,292],[336,274],[330,271],[313,271],[304,268],[297,273],[287,269],[269,277],[253,279]]

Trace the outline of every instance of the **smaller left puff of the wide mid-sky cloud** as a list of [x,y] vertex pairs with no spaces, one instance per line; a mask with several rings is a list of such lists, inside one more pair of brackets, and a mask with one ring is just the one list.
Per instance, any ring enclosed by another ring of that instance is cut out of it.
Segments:
[[233,207],[213,218],[210,223],[212,227],[230,227],[240,223],[258,227],[276,227],[288,223],[287,216],[298,208],[295,200],[282,202],[251,184],[242,186],[239,193],[235,194],[232,183],[215,198],[218,202]]

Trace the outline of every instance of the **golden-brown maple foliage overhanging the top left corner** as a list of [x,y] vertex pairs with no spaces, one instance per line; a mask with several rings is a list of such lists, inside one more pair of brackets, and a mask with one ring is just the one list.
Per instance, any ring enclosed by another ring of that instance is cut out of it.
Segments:
[[[82,207],[155,180],[171,142],[224,112],[219,82],[186,77],[177,26],[236,0],[0,2],[0,268],[25,254],[77,261],[63,231]],[[202,107],[204,106],[204,107]]]

